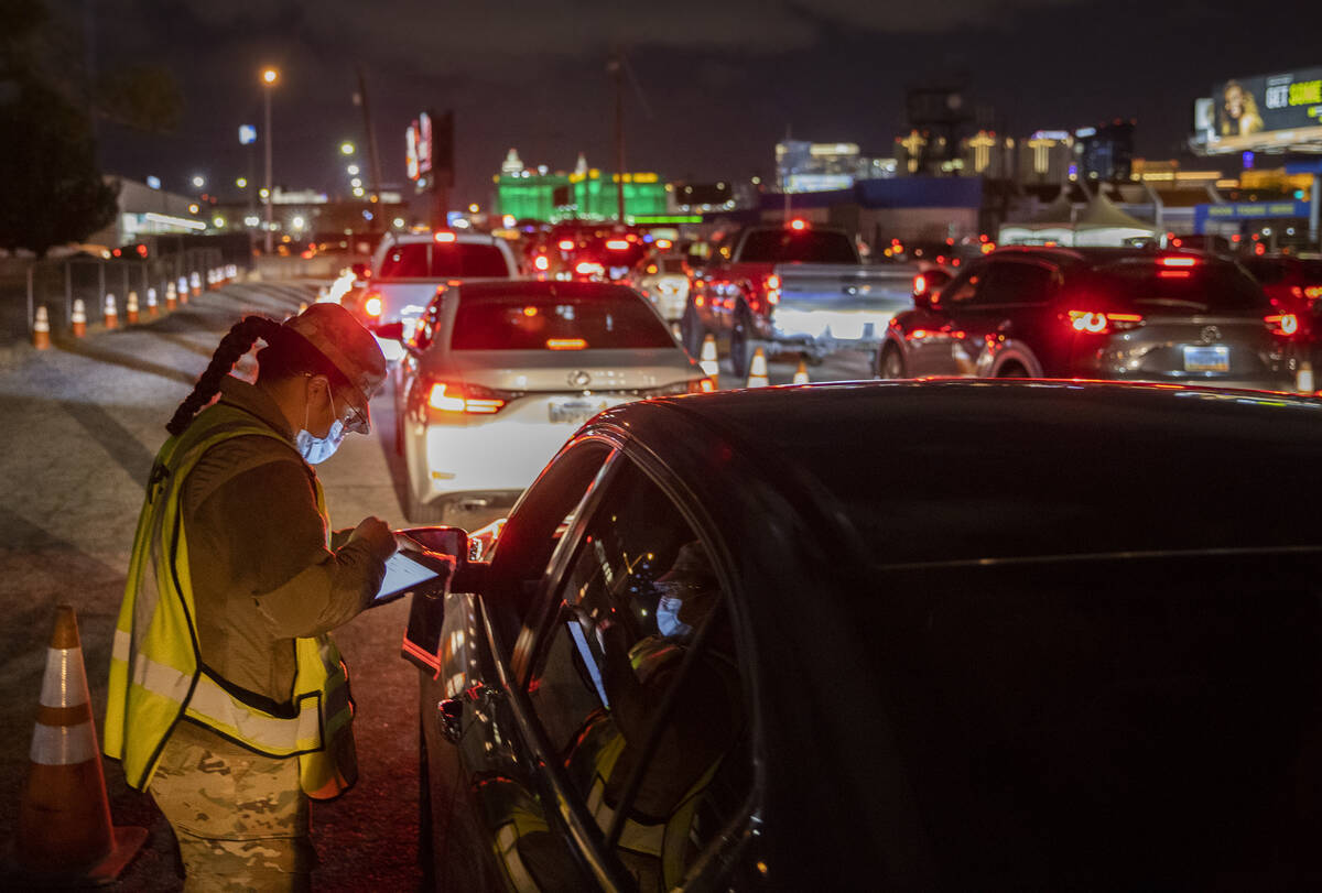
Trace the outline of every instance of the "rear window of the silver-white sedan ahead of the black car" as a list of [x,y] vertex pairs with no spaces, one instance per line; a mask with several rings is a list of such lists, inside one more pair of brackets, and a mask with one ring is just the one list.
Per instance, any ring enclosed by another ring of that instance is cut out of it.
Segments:
[[642,297],[625,289],[591,297],[460,296],[452,350],[609,350],[673,347]]

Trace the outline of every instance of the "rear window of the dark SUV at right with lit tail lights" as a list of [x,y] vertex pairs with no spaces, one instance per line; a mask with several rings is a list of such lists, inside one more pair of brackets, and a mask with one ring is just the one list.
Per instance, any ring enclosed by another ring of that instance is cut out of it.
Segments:
[[1229,263],[1199,260],[1192,267],[1163,267],[1155,259],[1121,260],[1097,267],[1069,283],[1071,296],[1087,296],[1107,308],[1140,313],[1265,310],[1266,295]]

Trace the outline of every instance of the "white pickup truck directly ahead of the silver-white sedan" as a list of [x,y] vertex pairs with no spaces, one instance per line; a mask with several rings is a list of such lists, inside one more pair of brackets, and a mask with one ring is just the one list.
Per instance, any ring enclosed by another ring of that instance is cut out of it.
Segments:
[[[518,279],[514,252],[505,239],[480,232],[391,234],[381,240],[371,266],[354,264],[361,284],[340,303],[369,328],[403,322],[412,332],[436,289],[456,281]],[[398,361],[398,341],[377,338],[387,361]]]

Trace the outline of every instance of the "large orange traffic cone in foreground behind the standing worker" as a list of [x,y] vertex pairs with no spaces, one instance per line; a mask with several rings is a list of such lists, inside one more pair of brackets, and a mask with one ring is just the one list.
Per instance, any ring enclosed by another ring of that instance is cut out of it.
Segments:
[[30,760],[15,847],[20,872],[46,884],[114,881],[147,828],[111,824],[78,618],[69,605],[56,609]]

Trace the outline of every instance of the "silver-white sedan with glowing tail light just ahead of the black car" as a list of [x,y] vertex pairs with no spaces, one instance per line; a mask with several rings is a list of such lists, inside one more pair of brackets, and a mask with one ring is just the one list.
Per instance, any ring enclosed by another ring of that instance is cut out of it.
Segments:
[[[389,333],[403,334],[399,328]],[[657,310],[636,291],[607,283],[446,288],[405,350],[397,443],[405,514],[418,523],[471,530],[508,514],[598,412],[713,390]]]

